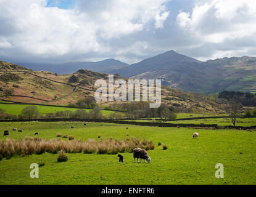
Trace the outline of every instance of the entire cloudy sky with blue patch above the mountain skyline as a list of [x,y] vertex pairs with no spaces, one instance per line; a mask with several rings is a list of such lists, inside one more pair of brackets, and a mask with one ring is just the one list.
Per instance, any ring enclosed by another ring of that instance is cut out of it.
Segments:
[[0,0],[0,60],[256,56],[255,0]]

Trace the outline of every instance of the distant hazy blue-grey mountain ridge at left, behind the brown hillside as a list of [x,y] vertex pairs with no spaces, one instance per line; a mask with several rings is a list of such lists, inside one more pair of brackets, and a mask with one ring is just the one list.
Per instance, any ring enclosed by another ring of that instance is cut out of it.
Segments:
[[66,62],[66,63],[19,63],[17,64],[26,66],[32,70],[46,70],[58,74],[70,74],[80,69],[91,70],[99,73],[108,73],[109,70],[115,70],[128,66],[127,63],[120,62],[115,59],[107,59],[99,62]]

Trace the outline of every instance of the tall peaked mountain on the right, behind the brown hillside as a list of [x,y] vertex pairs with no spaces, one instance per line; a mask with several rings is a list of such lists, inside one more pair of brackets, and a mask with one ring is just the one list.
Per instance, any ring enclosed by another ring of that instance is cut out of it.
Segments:
[[164,86],[204,94],[256,89],[256,57],[247,56],[200,62],[170,50],[110,73],[126,78],[162,79]]

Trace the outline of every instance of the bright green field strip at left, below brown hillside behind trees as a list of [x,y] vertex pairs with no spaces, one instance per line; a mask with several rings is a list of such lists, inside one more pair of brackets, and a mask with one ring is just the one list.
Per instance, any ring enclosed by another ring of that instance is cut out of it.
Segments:
[[[12,104],[0,103],[0,108],[6,110],[5,113],[12,114],[12,115],[20,115],[20,113],[22,112],[22,109],[28,106],[30,105],[16,105],[16,104],[12,105]],[[40,105],[35,105],[35,106],[38,108],[39,112],[43,115],[46,115],[47,113],[56,113],[57,111],[80,110],[78,108],[49,107],[49,106],[40,106]],[[91,111],[91,110],[86,109],[86,111]],[[102,115],[110,115],[111,113],[114,113],[114,111],[102,110]]]

